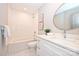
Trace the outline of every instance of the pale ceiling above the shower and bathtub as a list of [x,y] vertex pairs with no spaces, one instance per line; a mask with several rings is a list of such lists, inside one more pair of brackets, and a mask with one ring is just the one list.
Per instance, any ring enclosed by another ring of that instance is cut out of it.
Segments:
[[37,12],[39,8],[45,5],[45,3],[10,3],[8,4],[10,8],[19,11],[25,11],[27,13],[33,14]]

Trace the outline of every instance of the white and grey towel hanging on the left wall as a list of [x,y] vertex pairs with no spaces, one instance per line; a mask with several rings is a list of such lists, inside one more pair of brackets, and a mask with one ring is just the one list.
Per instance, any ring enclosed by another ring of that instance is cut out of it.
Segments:
[[5,47],[8,45],[8,40],[10,37],[10,29],[7,25],[0,25],[0,48]]

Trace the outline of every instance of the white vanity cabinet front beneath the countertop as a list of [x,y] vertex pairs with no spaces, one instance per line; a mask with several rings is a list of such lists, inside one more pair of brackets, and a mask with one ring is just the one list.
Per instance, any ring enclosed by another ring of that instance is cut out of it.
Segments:
[[77,56],[76,52],[61,47],[54,42],[37,37],[38,56]]

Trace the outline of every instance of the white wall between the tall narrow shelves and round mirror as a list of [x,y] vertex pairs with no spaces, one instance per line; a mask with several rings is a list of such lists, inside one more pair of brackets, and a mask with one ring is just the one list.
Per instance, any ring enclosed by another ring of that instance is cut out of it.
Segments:
[[52,32],[63,32],[58,30],[53,24],[55,12],[61,4],[62,3],[48,3],[40,8],[40,12],[44,13],[44,28],[49,28]]

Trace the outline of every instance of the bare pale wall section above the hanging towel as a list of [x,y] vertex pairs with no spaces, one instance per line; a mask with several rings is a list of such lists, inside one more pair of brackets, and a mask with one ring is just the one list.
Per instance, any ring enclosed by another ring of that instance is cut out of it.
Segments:
[[8,8],[7,3],[0,3],[0,25],[7,25],[8,23]]

